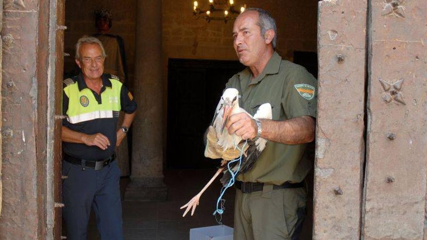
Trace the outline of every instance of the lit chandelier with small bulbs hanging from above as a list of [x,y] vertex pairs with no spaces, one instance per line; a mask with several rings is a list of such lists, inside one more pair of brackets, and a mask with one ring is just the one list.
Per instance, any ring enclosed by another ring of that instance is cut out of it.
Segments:
[[240,7],[240,11],[234,8],[234,0],[209,0],[209,8],[202,10],[198,8],[198,2],[194,1],[193,14],[196,19],[203,17],[206,21],[221,20],[227,23],[230,19],[236,19],[236,17],[243,13],[246,9],[246,4]]

